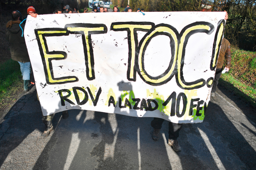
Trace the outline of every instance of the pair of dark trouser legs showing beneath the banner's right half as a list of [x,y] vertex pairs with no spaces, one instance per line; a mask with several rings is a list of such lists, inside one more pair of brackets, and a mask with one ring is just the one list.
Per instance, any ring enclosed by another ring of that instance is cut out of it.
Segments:
[[[154,118],[151,121],[151,126],[154,129],[161,129],[163,121],[164,119],[162,118]],[[169,122],[169,132],[168,132],[169,139],[177,140],[177,138],[179,137],[179,131],[181,130],[181,128],[182,128],[182,124]]]

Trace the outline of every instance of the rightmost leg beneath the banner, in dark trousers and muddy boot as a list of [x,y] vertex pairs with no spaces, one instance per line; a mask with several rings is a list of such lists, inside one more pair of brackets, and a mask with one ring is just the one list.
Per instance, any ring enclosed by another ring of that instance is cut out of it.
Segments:
[[180,123],[173,123],[169,122],[169,140],[168,140],[168,145],[172,146],[172,148],[176,152],[181,151],[181,147],[177,141],[177,138],[179,137],[179,131],[182,128],[182,124]]

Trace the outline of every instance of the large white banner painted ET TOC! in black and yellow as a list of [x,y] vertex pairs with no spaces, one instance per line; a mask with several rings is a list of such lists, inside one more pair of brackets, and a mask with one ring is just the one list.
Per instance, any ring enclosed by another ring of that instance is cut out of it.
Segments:
[[24,36],[43,115],[69,109],[199,123],[225,12],[28,17]]

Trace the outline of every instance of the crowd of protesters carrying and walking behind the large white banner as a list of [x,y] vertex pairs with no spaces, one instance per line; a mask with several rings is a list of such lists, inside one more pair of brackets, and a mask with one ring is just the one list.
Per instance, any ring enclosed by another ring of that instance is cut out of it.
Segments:
[[[108,12],[107,8],[103,8],[101,6],[93,6],[93,10],[88,11],[87,8],[84,9],[84,13],[88,12]],[[113,12],[120,12],[118,6],[114,6]],[[122,12],[132,12],[132,9],[129,7],[129,5],[126,6],[125,10]],[[144,12],[144,9],[137,9],[137,12]],[[77,8],[71,9],[69,5],[66,5],[61,8],[55,8],[53,14],[66,14],[66,13],[79,13]],[[36,11],[33,6],[30,6],[27,9],[27,14],[31,15],[32,17],[36,18]],[[10,43],[10,52],[11,52],[11,58],[15,61],[18,61],[20,64],[20,69],[22,72],[23,76],[23,84],[24,84],[24,91],[28,91],[28,84],[31,82],[32,84],[35,83],[35,80],[33,78],[32,74],[32,67],[30,65],[30,59],[29,59],[29,54],[27,51],[25,39],[23,36],[23,30],[25,27],[25,20],[27,18],[24,17],[22,18],[22,14],[19,11],[13,11],[12,12],[12,19],[11,21],[8,21],[6,24],[6,35],[7,39]],[[225,20],[228,19],[227,13],[225,16]],[[225,67],[224,66],[224,60],[226,60]],[[221,50],[219,54],[219,59],[217,63],[217,68],[216,68],[216,75],[214,77],[214,82],[213,82],[213,88],[212,88],[212,93],[211,97],[214,97],[214,93],[216,91],[216,86],[218,84],[218,80],[221,76],[221,71],[222,70],[229,70],[231,64],[231,52],[230,52],[230,43],[227,41],[227,39],[222,39],[222,45],[221,45]],[[31,76],[32,75],[32,76]],[[39,100],[39,99],[38,99]],[[45,124],[46,128],[44,132],[41,134],[41,137],[48,137],[49,134],[54,131],[53,125],[52,125],[52,119],[54,117],[54,114],[48,115],[48,116],[42,116],[42,121]],[[67,118],[68,117],[68,112],[63,111],[62,112],[62,118]],[[151,121],[151,126],[154,128],[152,138],[154,140],[158,140],[160,130],[162,128],[164,119],[162,118],[154,118]],[[175,151],[179,152],[181,151],[181,147],[178,144],[177,138],[179,137],[179,131],[182,129],[182,124],[177,124],[177,123],[172,123],[169,122],[169,141],[168,145],[170,145]]]

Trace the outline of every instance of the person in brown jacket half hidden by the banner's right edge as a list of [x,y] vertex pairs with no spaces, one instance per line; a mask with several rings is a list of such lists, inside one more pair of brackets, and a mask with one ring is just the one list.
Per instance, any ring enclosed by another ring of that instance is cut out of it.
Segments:
[[[225,67],[223,69],[224,65],[224,59],[226,60]],[[228,71],[230,69],[231,65],[231,49],[230,49],[230,43],[227,39],[223,38],[222,43],[221,43],[221,50],[216,66],[216,73],[213,81],[213,87],[212,87],[212,92],[211,92],[211,97],[215,96],[215,92],[217,90],[217,85],[219,82],[219,79],[221,77],[221,71],[225,70]]]

